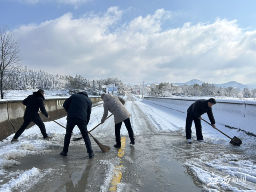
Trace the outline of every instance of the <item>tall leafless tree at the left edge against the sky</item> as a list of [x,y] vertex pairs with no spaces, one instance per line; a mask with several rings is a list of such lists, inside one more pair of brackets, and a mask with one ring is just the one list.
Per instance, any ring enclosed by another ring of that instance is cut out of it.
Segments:
[[8,87],[8,79],[21,66],[23,57],[20,44],[12,37],[7,25],[0,25],[0,94],[4,99],[4,90]]

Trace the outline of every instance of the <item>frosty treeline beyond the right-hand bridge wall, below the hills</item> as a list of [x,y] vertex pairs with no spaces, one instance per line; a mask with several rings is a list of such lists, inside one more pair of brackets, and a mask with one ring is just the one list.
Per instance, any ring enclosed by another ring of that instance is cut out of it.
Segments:
[[150,94],[152,96],[164,96],[170,97],[173,95],[179,96],[229,96],[236,98],[256,98],[256,88],[233,88],[233,87],[217,87],[214,84],[203,83],[202,85],[186,85],[177,86],[170,84],[169,82],[162,82],[155,90],[151,90]]

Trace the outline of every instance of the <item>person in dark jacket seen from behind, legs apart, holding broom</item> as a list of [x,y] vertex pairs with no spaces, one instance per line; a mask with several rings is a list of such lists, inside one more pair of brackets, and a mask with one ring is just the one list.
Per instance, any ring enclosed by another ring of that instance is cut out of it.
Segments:
[[62,156],[68,155],[68,146],[70,143],[72,131],[77,125],[84,138],[84,143],[87,148],[89,158],[93,158],[94,153],[92,151],[92,144],[87,130],[87,125],[90,121],[90,115],[92,112],[92,102],[88,98],[88,94],[86,92],[73,94],[64,102],[63,107],[68,113],[68,116],[64,146],[60,154]]

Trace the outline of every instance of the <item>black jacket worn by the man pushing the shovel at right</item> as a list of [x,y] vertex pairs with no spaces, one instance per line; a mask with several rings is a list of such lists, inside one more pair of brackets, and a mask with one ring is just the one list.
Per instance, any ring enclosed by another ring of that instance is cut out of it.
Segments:
[[199,118],[202,114],[207,113],[211,124],[215,124],[212,108],[208,106],[208,102],[205,99],[200,99],[194,102],[192,105],[190,105],[187,112],[190,115],[196,116],[197,118]]

